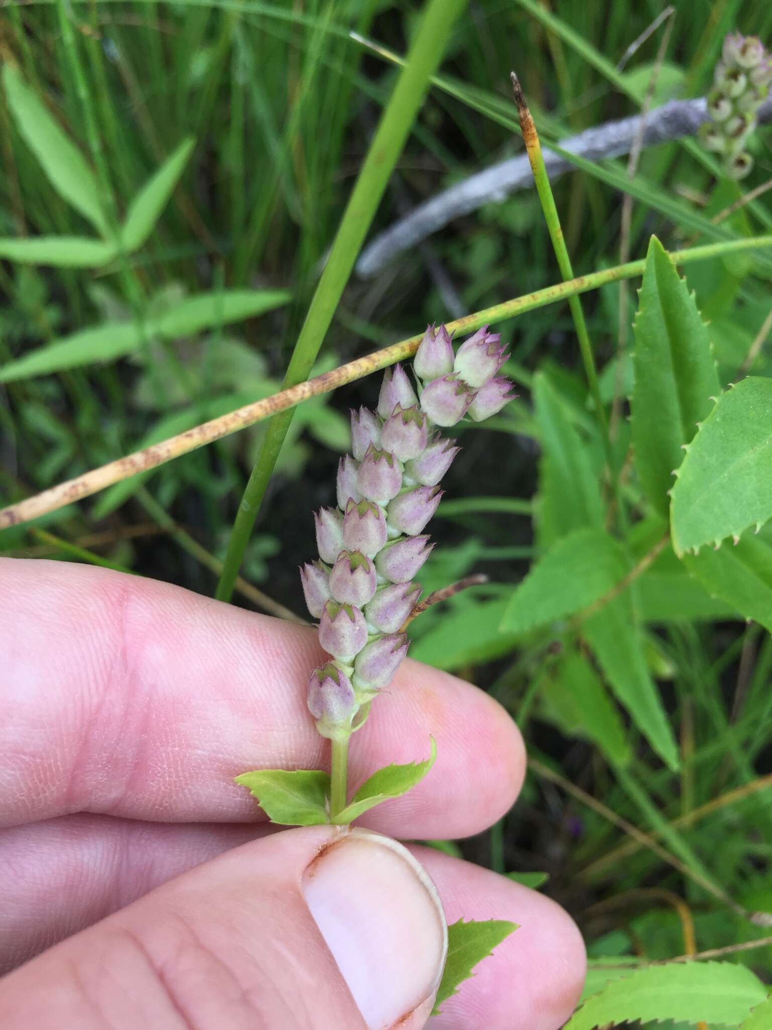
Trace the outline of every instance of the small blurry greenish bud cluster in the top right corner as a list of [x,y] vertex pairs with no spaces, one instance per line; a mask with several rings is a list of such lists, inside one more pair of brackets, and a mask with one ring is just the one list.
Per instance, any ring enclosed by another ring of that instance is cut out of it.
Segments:
[[772,58],[756,36],[735,32],[724,40],[722,59],[707,97],[710,121],[700,129],[700,138],[708,150],[723,156],[725,173],[741,179],[753,165],[745,143],[772,82]]

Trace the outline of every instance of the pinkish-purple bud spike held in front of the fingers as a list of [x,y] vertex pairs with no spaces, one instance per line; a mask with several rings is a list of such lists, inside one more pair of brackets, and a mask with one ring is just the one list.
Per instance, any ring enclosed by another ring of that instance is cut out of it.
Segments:
[[454,353],[445,325],[430,325],[413,363],[415,385],[396,365],[386,370],[377,411],[351,413],[338,507],[316,513],[319,560],[301,570],[319,642],[331,656],[311,674],[308,692],[323,736],[351,732],[359,708],[389,684],[408,651],[403,626],[421,594],[413,578],[433,546],[423,530],[458,453],[435,427],[500,411],[514,397],[498,375],[504,359],[488,327]]

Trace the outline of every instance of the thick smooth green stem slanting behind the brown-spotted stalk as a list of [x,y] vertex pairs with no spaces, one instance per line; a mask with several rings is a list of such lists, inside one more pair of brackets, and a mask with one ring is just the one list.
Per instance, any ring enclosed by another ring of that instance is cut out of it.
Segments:
[[[285,387],[303,382],[311,373],[364,236],[428,89],[429,78],[440,64],[450,31],[465,5],[466,0],[429,0],[426,6],[406,67],[399,73],[346,205],[329,258],[292,351],[284,377]],[[215,594],[219,600],[231,599],[255,517],[291,421],[292,410],[289,409],[275,416],[268,427],[231,531]]]

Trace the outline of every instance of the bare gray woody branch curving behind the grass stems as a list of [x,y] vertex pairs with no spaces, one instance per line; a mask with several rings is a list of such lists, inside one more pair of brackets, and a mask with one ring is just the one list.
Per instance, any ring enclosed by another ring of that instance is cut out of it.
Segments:
[[[645,116],[643,145],[653,146],[682,136],[693,136],[702,123],[707,121],[705,107],[704,97],[698,100],[671,100],[661,107],[655,107]],[[759,122],[772,122],[772,98],[765,101],[758,116]],[[634,114],[618,122],[606,122],[602,126],[587,129],[577,136],[570,136],[560,146],[588,161],[619,158],[630,152],[641,131],[641,119],[642,115]],[[573,167],[566,158],[550,150],[549,144],[543,144],[543,150],[545,165],[551,179]],[[372,279],[397,254],[416,246],[453,218],[468,214],[491,201],[500,202],[508,194],[532,184],[533,176],[525,153],[471,175],[419,205],[409,215],[394,222],[391,229],[377,236],[357,262],[357,274],[362,279]]]

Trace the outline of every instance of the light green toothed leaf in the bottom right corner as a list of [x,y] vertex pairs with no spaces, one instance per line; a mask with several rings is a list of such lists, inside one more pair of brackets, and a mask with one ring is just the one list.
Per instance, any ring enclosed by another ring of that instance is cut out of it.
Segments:
[[588,998],[565,1030],[593,1030],[638,1020],[737,1026],[766,994],[758,976],[733,962],[648,966]]

